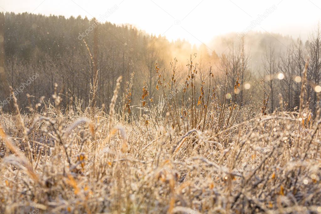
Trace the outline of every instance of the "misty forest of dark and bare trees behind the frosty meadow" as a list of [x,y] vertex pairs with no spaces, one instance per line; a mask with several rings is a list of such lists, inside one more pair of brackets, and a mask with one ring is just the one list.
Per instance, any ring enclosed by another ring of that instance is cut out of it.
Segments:
[[[307,100],[313,110],[320,101],[321,87],[320,91],[317,87],[321,81],[319,28],[311,32],[307,41],[289,39],[286,48],[280,48],[282,44],[277,39],[266,39],[267,35],[264,40],[257,41],[264,50],[258,62],[260,66],[254,67],[247,37],[229,41],[226,51],[216,53],[205,44],[196,47],[185,40],[169,41],[132,26],[98,23],[80,16],[1,13],[0,20],[0,101],[10,96],[8,87],[11,86],[17,90],[16,97],[23,110],[38,103],[42,96],[53,102],[55,92],[61,96],[62,107],[68,106],[72,98],[86,108],[96,70],[98,107],[108,108],[119,76],[123,77],[121,95],[126,94],[127,82],[133,78],[132,105],[141,102],[144,83],[150,97],[157,100],[161,93],[157,90],[155,63],[164,75],[170,75],[175,62],[179,84],[185,81],[186,64],[194,58],[200,73],[196,77],[198,81],[212,67],[216,84],[222,86],[226,76],[231,93],[235,82],[239,81],[237,99],[241,105],[261,102],[269,94],[271,112],[281,105],[280,93],[284,108],[293,110],[299,106],[302,73],[309,60]],[[12,102],[2,107],[11,110]]]

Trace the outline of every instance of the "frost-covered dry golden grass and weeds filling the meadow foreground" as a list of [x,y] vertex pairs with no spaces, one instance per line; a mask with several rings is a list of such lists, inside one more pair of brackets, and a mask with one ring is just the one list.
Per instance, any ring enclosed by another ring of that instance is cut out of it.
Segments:
[[267,115],[268,98],[239,107],[238,81],[227,99],[226,81],[188,67],[176,92],[175,64],[168,82],[156,65],[159,104],[145,85],[131,107],[128,82],[109,114],[62,113],[56,94],[41,113],[1,114],[0,213],[320,212],[320,121]]

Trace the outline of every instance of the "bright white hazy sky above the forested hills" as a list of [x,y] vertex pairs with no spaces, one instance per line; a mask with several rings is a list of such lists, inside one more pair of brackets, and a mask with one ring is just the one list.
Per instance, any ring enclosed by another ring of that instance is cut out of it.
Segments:
[[[0,11],[94,16],[116,24],[132,24],[169,40],[185,38],[206,44],[216,35],[246,29],[306,38],[321,20],[321,1],[0,0]],[[257,19],[259,23],[252,22]]]

